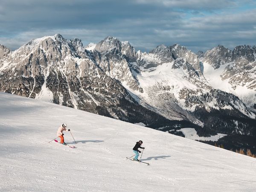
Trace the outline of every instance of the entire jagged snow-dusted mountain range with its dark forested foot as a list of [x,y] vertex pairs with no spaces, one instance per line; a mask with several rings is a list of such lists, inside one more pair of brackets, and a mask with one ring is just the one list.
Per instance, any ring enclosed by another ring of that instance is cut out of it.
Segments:
[[[19,49],[0,45],[0,91],[180,134],[227,134],[247,146],[256,137],[256,47],[221,45],[191,52],[178,44],[136,51],[106,37],[83,46],[60,34]],[[241,138],[242,142],[241,142]],[[239,144],[242,143],[242,144]]]

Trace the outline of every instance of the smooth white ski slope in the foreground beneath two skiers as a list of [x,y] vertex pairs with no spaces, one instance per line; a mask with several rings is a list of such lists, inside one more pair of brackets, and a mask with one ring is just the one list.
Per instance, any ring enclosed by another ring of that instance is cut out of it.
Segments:
[[[63,122],[75,149],[48,143]],[[139,159],[150,166],[125,160],[138,140],[145,147]],[[0,93],[0,141],[0,191],[256,189],[255,158],[7,93]]]

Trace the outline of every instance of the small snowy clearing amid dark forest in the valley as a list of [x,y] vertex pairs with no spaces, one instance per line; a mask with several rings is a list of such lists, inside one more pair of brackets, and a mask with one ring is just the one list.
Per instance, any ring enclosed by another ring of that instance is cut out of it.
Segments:
[[211,137],[199,137],[194,128],[182,128],[180,131],[185,135],[187,139],[190,140],[218,141],[221,137],[226,136],[226,134],[218,133],[217,135],[212,135]]

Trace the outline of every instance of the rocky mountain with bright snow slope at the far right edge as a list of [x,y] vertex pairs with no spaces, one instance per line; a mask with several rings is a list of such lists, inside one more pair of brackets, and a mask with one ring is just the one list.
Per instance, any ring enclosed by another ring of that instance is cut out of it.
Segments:
[[213,87],[233,93],[256,109],[256,47],[237,46],[233,51],[219,45],[201,54],[204,76]]

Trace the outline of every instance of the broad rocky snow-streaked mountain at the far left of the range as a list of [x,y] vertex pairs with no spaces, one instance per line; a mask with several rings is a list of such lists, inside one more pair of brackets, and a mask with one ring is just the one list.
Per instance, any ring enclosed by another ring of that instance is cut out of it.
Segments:
[[91,59],[81,40],[57,34],[32,40],[10,55],[1,70],[0,90],[96,113],[120,98],[133,99]]

